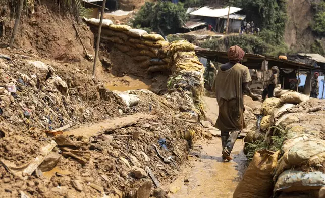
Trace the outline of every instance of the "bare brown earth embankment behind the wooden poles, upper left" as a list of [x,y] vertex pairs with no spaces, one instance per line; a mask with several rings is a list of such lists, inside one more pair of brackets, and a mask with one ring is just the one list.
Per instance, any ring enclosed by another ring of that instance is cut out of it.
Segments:
[[[8,24],[13,26],[14,19],[10,18],[9,7],[7,5],[1,6],[6,10],[4,12],[6,16],[3,17],[11,19],[11,23]],[[33,14],[23,13],[14,46],[42,58],[52,59],[59,63],[73,64],[81,70],[87,69],[90,73],[93,61],[87,59],[81,41],[73,27],[74,23],[86,50],[94,57],[94,35],[89,27],[83,22],[76,23],[73,16],[69,14],[62,15],[56,2],[49,0],[42,1],[41,4],[35,2]],[[1,39],[4,45],[9,43],[11,30],[11,27],[6,28],[5,36]],[[96,72],[103,74],[99,61],[97,65]]]

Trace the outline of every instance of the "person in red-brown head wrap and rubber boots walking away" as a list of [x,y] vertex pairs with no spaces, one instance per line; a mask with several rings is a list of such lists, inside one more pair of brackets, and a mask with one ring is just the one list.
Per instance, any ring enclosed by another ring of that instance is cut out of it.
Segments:
[[248,68],[239,63],[244,55],[245,52],[239,46],[230,47],[229,62],[220,66],[212,86],[219,106],[215,127],[221,131],[222,157],[228,161],[232,160],[230,153],[238,134],[246,127],[244,94],[253,100],[259,100],[248,87],[248,82],[252,80]]

